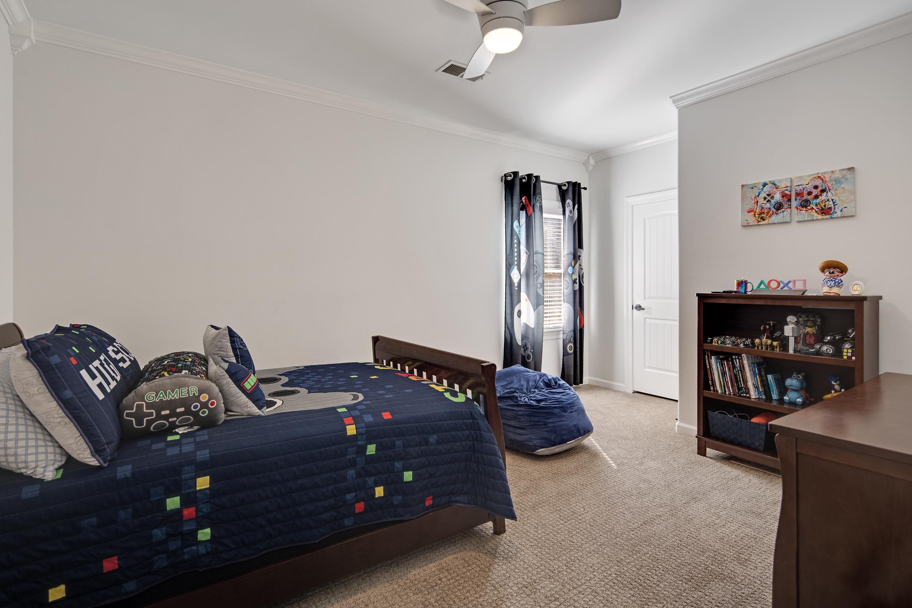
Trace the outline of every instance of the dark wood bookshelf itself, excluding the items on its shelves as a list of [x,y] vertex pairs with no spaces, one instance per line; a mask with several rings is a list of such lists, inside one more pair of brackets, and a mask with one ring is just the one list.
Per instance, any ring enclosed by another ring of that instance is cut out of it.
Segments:
[[[830,392],[828,376],[839,376],[846,389],[860,385],[880,373],[879,343],[879,295],[789,295],[776,294],[697,294],[697,453],[706,456],[706,449],[715,449],[731,456],[750,460],[757,464],[779,469],[779,457],[772,448],[769,451],[745,448],[729,441],[710,436],[706,412],[714,407],[732,404],[748,412],[772,411],[792,414],[801,409],[814,407],[823,402],[824,394]],[[855,359],[840,356],[814,356],[789,353],[788,344],[782,351],[760,348],[741,348],[707,344],[708,337],[736,335],[756,338],[760,326],[767,321],[776,322],[776,329],[785,324],[785,317],[800,312],[820,314],[823,319],[823,335],[855,328]],[[798,407],[782,400],[752,399],[738,397],[710,390],[704,351],[733,355],[762,356],[766,372],[782,375],[782,379],[794,372],[804,372],[807,390],[814,397],[814,404]],[[840,397],[835,397],[840,398]],[[780,420],[782,418],[779,418]]]

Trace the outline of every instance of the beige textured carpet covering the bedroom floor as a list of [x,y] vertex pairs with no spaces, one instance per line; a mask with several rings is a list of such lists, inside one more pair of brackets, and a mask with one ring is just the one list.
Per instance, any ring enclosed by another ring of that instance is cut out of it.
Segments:
[[596,427],[549,457],[509,451],[519,521],[302,593],[310,606],[768,606],[780,478],[674,431],[677,403],[582,386]]

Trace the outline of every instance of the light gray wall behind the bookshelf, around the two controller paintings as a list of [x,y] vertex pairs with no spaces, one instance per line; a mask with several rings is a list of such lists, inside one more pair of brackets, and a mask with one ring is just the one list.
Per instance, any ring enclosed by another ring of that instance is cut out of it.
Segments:
[[[812,86],[813,83],[813,86]],[[912,36],[679,110],[681,423],[696,425],[694,294],[841,260],[880,294],[880,371],[912,373]],[[857,216],[741,227],[740,186],[855,167]],[[704,336],[705,337],[705,336]]]

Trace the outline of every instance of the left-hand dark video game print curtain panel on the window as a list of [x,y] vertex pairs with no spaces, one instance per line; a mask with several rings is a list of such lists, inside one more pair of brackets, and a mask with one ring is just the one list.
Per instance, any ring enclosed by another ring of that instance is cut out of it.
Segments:
[[[510,178],[510,179],[507,179]],[[544,338],[544,219],[537,175],[513,171],[503,179],[506,305],[503,367],[542,370]]]

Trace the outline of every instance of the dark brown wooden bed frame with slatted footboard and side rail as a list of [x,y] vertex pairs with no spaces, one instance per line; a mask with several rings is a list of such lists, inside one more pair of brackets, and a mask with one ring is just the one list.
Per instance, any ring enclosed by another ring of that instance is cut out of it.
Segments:
[[[0,325],[0,338],[12,336],[10,325]],[[17,340],[10,342],[16,344]],[[0,339],[0,342],[3,342]],[[427,377],[465,393],[481,405],[497,438],[503,465],[501,414],[497,408],[494,373],[497,366],[481,359],[454,355],[375,335],[374,363]],[[380,562],[420,549],[491,521],[494,534],[503,534],[502,517],[476,507],[450,506],[432,510],[414,520],[376,524],[339,532],[323,541],[265,553],[252,560],[185,572],[125,600],[105,604],[115,608],[199,608],[224,605],[232,608],[264,606],[325,582],[364,570]]]

